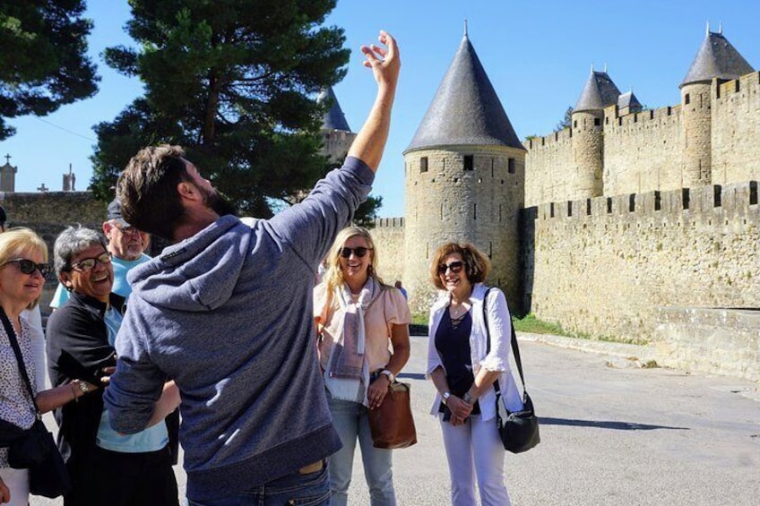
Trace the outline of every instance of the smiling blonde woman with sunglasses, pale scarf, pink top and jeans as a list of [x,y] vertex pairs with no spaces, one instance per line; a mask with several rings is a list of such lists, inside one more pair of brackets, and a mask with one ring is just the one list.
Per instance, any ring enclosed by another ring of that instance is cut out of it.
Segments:
[[348,502],[358,439],[370,503],[395,504],[393,450],[373,446],[367,410],[380,407],[409,360],[409,306],[377,276],[377,251],[366,229],[341,230],[326,262],[314,300],[327,400],[343,443],[329,459],[332,503]]

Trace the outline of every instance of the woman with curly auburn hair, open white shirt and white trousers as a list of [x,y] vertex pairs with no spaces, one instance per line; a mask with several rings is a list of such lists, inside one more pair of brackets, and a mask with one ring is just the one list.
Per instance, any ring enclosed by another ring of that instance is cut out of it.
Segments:
[[427,374],[438,390],[432,414],[441,421],[454,505],[476,503],[476,476],[483,506],[510,504],[494,382],[510,410],[522,400],[509,367],[512,320],[504,293],[483,284],[488,269],[488,257],[468,243],[443,244],[430,268],[442,291],[430,309]]

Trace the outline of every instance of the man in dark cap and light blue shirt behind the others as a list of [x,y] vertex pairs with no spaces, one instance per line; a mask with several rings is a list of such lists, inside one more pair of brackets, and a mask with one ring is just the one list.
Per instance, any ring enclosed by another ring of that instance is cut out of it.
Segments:
[[[114,287],[111,291],[125,298],[132,293],[132,287],[126,280],[126,273],[151,257],[143,253],[148,247],[150,236],[132,227],[121,216],[121,204],[114,199],[108,204],[108,219],[103,222],[103,234],[108,239],[108,252],[114,266]],[[65,304],[69,294],[65,287],[58,284],[56,295],[50,301],[50,307],[57,309]]]

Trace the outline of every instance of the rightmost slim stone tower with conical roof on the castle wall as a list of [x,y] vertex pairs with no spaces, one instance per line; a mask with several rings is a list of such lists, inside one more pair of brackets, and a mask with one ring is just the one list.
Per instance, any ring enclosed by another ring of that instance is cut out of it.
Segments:
[[752,66],[723,37],[722,30],[713,33],[708,26],[704,42],[679,86],[684,121],[682,186],[712,183],[712,80],[738,79],[751,72]]

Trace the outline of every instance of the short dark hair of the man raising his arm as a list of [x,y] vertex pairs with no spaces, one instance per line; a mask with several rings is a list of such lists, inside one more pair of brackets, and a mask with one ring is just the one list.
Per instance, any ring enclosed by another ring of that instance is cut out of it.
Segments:
[[117,183],[124,219],[133,227],[171,241],[185,210],[177,184],[190,181],[185,151],[179,146],[151,146],[140,150]]

